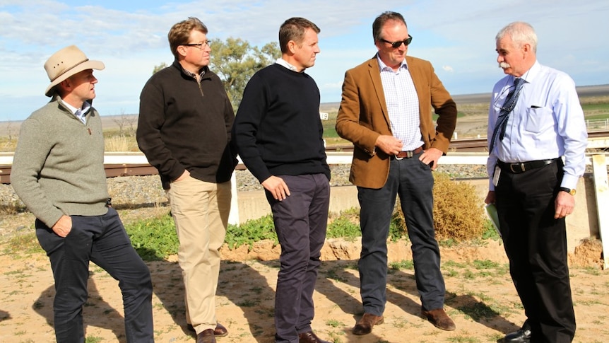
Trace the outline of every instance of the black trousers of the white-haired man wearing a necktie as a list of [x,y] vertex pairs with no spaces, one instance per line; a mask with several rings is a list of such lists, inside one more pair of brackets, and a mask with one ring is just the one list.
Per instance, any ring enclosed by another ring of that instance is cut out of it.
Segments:
[[499,226],[531,342],[572,342],[575,315],[564,219],[554,219],[562,161],[524,173],[501,170],[495,187]]

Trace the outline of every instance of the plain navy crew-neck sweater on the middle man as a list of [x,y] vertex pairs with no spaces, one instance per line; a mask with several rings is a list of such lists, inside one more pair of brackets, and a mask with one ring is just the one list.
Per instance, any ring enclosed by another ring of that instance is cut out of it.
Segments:
[[243,163],[260,182],[271,175],[324,173],[330,180],[319,119],[319,88],[279,64],[249,80],[233,124]]

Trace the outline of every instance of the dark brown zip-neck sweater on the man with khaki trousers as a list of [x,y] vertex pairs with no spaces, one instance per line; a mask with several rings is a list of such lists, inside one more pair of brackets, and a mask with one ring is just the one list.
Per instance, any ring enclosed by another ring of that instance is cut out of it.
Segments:
[[165,190],[184,170],[201,181],[226,182],[237,164],[232,105],[220,78],[204,71],[197,83],[175,61],[150,77],[140,95],[138,145]]

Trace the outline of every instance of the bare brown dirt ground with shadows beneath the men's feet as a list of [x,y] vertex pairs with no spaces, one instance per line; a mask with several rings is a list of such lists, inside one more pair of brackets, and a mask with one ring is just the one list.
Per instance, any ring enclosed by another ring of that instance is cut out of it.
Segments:
[[[314,301],[312,327],[335,343],[496,342],[524,321],[519,298],[507,272],[503,246],[494,240],[479,245],[442,248],[447,284],[446,308],[457,329],[445,332],[420,318],[410,247],[391,243],[385,322],[371,334],[355,336],[351,328],[362,314],[357,274],[360,244],[340,239],[324,246]],[[0,245],[0,251],[4,248]],[[217,293],[219,322],[228,342],[273,342],[273,301],[278,247],[256,243],[252,250],[221,250],[223,264]],[[601,245],[589,241],[570,257],[572,293],[578,320],[574,342],[609,342],[609,279],[600,269]],[[156,342],[194,342],[186,330],[184,289],[176,257],[148,262],[153,276]],[[126,342],[117,281],[90,267],[89,301],[84,308],[87,342]],[[54,342],[54,287],[47,257],[0,255],[0,342]]]

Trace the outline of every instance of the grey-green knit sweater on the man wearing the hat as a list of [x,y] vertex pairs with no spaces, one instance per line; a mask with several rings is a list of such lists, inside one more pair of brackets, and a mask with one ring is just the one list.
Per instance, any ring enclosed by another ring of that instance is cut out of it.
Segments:
[[33,112],[21,124],[11,184],[49,227],[62,214],[105,214],[104,138],[97,110],[91,107],[83,124],[55,97]]

